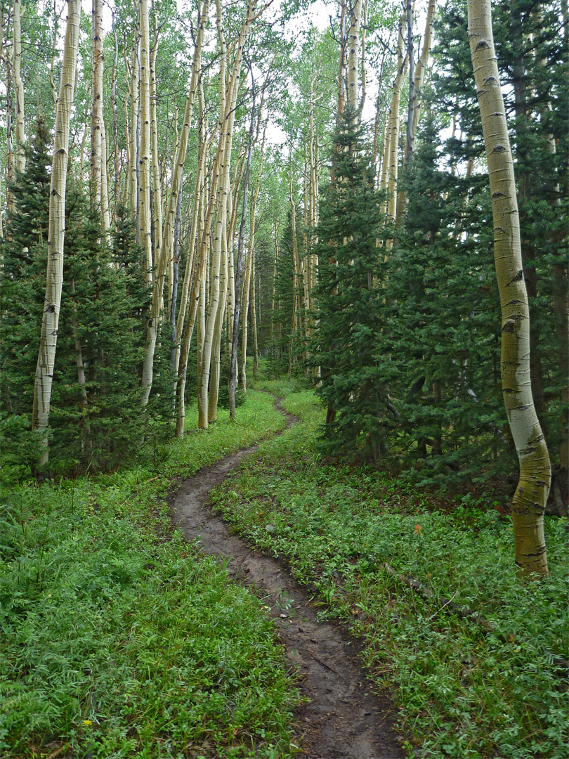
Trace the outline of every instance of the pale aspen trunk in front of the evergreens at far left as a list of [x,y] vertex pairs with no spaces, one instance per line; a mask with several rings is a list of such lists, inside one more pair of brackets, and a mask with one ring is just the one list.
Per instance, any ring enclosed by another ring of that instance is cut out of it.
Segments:
[[63,285],[63,252],[65,237],[65,189],[67,186],[69,123],[74,101],[77,49],[79,46],[80,2],[69,0],[68,20],[61,69],[61,88],[55,103],[55,137],[53,143],[52,178],[49,190],[48,263],[46,298],[44,301],[42,332],[36,379],[33,389],[32,427],[41,436],[42,452],[36,468],[41,471],[49,458],[48,427],[49,405],[52,400],[52,382],[57,348],[61,287]]

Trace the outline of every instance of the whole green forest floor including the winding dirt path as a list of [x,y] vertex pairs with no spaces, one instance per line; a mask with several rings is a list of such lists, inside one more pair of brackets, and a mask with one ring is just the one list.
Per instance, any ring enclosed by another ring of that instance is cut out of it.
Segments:
[[259,376],[120,471],[0,483],[2,759],[566,759],[566,521],[520,583],[491,499],[322,460],[324,414]]

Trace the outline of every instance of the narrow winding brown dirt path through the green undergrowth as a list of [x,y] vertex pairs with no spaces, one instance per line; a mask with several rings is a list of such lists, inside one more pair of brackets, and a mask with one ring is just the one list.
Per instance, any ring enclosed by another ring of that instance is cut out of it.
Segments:
[[[281,413],[284,413],[281,411]],[[285,414],[290,427],[297,419]],[[284,562],[264,556],[231,534],[209,505],[209,491],[255,452],[241,450],[184,480],[171,497],[171,518],[188,540],[200,539],[204,553],[226,562],[228,572],[251,587],[269,607],[288,660],[300,673],[310,702],[295,714],[300,757],[307,759],[401,759],[387,700],[366,681],[358,644],[342,625],[319,622],[310,594]]]

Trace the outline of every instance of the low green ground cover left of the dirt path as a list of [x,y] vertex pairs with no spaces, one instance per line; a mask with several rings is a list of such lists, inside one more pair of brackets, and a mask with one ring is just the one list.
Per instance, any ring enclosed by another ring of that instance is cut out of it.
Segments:
[[285,426],[250,392],[237,423],[115,474],[0,497],[0,755],[287,757],[298,701],[272,622],[172,536],[175,477]]

